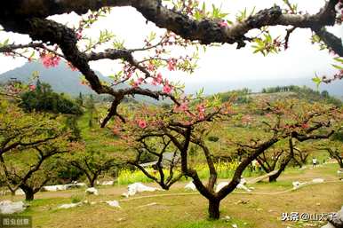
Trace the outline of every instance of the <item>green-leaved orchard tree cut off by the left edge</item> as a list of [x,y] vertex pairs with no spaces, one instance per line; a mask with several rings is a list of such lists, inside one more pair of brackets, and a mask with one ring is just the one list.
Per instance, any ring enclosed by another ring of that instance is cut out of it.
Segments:
[[26,114],[7,100],[0,102],[1,177],[10,190],[21,188],[26,200],[33,200],[43,185],[56,177],[59,153],[76,144],[68,142],[69,132],[58,117]]

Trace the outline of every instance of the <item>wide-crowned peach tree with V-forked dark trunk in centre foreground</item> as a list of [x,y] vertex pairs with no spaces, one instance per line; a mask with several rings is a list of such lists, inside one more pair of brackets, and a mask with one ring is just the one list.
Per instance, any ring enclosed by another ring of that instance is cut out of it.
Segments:
[[[255,106],[259,114],[241,115],[242,110],[235,110],[232,101],[221,103],[218,99],[189,98],[181,105],[175,105],[172,110],[156,106],[138,106],[140,112],[133,112],[125,124],[114,123],[116,132],[127,145],[137,151],[137,157],[130,164],[136,166],[143,173],[153,179],[162,188],[168,190],[180,177],[191,177],[196,189],[209,200],[209,216],[219,218],[219,203],[240,183],[244,169],[253,160],[259,160],[273,146],[286,140],[288,149],[284,149],[285,159],[280,168],[271,177],[275,181],[283,172],[293,157],[294,142],[319,140],[329,138],[334,133],[335,125],[342,119],[342,112],[335,106],[323,104],[307,104],[305,101],[290,99],[275,102],[261,102]],[[251,107],[250,107],[251,109]],[[253,109],[253,108],[252,108]],[[249,111],[253,113],[253,110]],[[256,119],[256,120],[254,120]],[[256,129],[263,130],[261,138],[231,139],[231,146],[235,146],[240,153],[241,161],[235,169],[234,177],[221,189],[215,189],[218,172],[213,157],[215,151],[205,140],[213,130],[213,125],[220,122],[254,122]],[[119,119],[117,119],[119,121]],[[192,145],[196,145],[203,153],[210,177],[207,183],[198,176],[194,164],[189,162]],[[146,169],[140,159],[148,153],[156,158],[156,171]],[[169,160],[164,161],[164,154],[169,153]]]

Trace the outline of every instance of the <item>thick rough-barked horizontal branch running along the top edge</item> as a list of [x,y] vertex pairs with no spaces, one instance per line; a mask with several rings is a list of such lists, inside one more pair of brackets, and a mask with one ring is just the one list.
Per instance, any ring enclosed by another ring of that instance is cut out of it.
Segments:
[[[13,32],[27,33],[28,24],[31,19],[44,19],[53,14],[65,12],[76,12],[84,14],[88,10],[96,11],[104,6],[132,6],[139,11],[147,20],[152,21],[159,28],[167,28],[172,32],[189,40],[199,40],[201,43],[238,43],[238,47],[245,45],[244,41],[249,39],[245,34],[253,28],[264,26],[293,26],[295,28],[311,28],[323,40],[331,42],[339,39],[327,31],[323,32],[325,26],[335,24],[335,6],[339,0],[330,0],[320,12],[315,14],[292,14],[283,13],[279,6],[257,12],[242,22],[235,23],[233,26],[222,29],[215,20],[193,20],[185,14],[176,12],[161,4],[161,0],[112,0],[112,1],[12,1],[3,4],[0,10],[0,24],[4,29]],[[334,38],[332,38],[334,37]],[[341,43],[333,42],[330,46],[343,55]]]

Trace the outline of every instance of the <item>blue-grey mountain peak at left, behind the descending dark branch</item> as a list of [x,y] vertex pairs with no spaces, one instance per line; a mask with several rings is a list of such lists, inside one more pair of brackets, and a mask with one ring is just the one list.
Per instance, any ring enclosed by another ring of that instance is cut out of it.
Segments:
[[[82,74],[78,71],[72,71],[65,62],[60,62],[58,67],[46,68],[40,62],[27,63],[22,67],[17,67],[11,71],[7,71],[0,75],[0,83],[7,82],[12,79],[20,80],[23,83],[28,83],[32,73],[39,72],[41,82],[52,85],[52,90],[56,92],[68,93],[76,96],[80,92],[84,94],[94,93],[94,91],[86,85],[80,84]],[[100,80],[109,82],[108,77],[96,72]]]

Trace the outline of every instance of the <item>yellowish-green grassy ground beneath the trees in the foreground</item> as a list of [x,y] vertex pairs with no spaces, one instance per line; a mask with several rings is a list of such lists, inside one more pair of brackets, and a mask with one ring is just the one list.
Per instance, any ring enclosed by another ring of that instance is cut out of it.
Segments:
[[[99,196],[85,195],[84,189],[37,193],[36,200],[20,215],[32,216],[36,228],[219,228],[233,227],[233,224],[251,228],[320,227],[321,222],[283,222],[281,215],[283,212],[338,211],[343,202],[343,182],[339,181],[337,169],[337,164],[325,164],[317,169],[288,169],[276,183],[251,185],[255,188],[251,193],[236,190],[220,204],[221,217],[230,216],[228,220],[208,221],[207,201],[196,192],[185,191],[187,182],[177,183],[168,192],[139,193],[128,199],[120,196],[126,191],[125,185],[101,186]],[[292,181],[305,182],[318,177],[325,182],[291,191]],[[0,198],[4,199],[23,200],[21,196]],[[96,204],[58,209],[60,204],[77,200]],[[122,208],[111,208],[105,200],[119,200]]]

